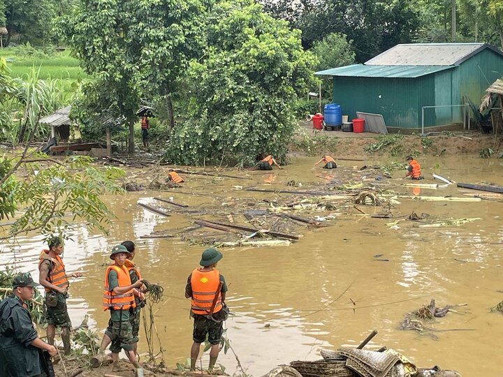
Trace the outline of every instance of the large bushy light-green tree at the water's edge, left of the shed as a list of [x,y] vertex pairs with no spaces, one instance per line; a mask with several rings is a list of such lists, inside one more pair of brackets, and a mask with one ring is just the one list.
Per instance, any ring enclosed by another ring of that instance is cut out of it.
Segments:
[[291,106],[314,83],[316,58],[302,50],[300,31],[254,1],[222,1],[208,20],[204,56],[191,63],[190,119],[174,129],[166,158],[247,165],[272,153],[284,161]]

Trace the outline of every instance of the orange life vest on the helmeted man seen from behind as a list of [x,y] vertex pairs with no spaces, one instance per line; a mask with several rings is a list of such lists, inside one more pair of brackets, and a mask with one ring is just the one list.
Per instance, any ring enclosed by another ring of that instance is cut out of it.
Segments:
[[218,295],[213,313],[221,311],[221,292],[217,292],[220,283],[220,272],[217,269],[202,272],[201,269],[194,269],[191,274],[192,300],[191,310],[194,314],[207,316],[215,295]]

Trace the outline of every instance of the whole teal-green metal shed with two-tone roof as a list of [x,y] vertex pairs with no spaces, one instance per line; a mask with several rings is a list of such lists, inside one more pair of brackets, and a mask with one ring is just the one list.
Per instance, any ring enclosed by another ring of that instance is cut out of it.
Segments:
[[349,119],[369,112],[382,114],[391,132],[434,131],[467,123],[467,98],[479,105],[503,76],[503,53],[481,43],[404,44],[315,75],[333,77],[333,102]]

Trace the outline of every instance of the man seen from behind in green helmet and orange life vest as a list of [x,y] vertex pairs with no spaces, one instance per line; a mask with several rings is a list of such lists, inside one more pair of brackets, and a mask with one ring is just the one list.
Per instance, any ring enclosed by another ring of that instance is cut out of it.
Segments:
[[224,332],[222,321],[226,319],[222,315],[225,311],[227,285],[224,276],[215,268],[221,258],[223,256],[217,249],[206,249],[199,262],[203,267],[194,269],[187,279],[185,297],[192,299],[191,317],[194,318],[191,371],[196,370],[199,349],[206,335],[211,344],[208,370],[211,371],[217,362],[220,339]]

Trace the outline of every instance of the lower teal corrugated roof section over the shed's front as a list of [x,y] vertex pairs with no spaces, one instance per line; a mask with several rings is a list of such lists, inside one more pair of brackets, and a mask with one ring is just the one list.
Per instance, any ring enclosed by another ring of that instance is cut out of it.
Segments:
[[414,78],[451,68],[454,68],[454,66],[367,66],[353,64],[352,66],[327,69],[314,74],[319,76]]

